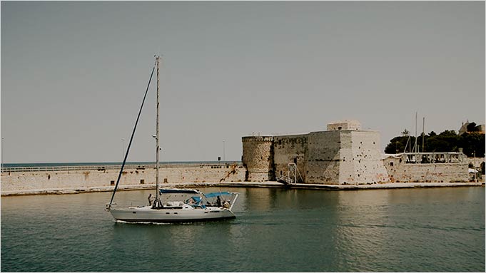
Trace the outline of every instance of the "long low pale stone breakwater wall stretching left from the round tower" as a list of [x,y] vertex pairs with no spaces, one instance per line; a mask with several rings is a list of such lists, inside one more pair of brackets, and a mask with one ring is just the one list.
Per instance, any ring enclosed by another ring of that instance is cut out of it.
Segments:
[[[159,182],[161,185],[241,182],[245,180],[245,170],[241,163],[165,164],[159,170]],[[3,168],[1,195],[113,190],[119,171],[119,165]],[[156,185],[155,177],[154,165],[126,165],[119,187],[152,188]]]

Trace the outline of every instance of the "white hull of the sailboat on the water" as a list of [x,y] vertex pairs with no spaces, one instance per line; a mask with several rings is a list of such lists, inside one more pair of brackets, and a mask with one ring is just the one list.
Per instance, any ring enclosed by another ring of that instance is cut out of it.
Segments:
[[153,209],[150,206],[111,208],[115,220],[124,222],[200,222],[208,220],[231,219],[236,216],[226,208],[162,208]]

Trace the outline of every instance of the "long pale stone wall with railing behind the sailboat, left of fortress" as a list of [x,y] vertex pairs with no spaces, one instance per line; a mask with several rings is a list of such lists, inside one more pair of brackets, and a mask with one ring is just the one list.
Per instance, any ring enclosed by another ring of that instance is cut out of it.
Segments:
[[[155,185],[154,168],[123,170],[121,186]],[[1,173],[1,195],[35,190],[76,189],[113,186],[119,170],[24,171]],[[161,168],[161,185],[184,182],[241,182],[245,168],[239,164]]]

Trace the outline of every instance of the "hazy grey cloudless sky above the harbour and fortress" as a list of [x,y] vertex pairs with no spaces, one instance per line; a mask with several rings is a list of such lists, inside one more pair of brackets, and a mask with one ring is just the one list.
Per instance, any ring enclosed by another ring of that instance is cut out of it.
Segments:
[[[344,119],[382,151],[415,113],[485,123],[484,1],[1,1],[0,35],[4,163],[122,161],[156,54],[161,161]],[[155,83],[128,161],[155,160]]]

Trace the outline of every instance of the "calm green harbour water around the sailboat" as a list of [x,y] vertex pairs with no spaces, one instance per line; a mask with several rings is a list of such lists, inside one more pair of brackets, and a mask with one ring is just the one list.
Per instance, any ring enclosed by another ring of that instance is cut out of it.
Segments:
[[221,190],[237,218],[191,225],[113,222],[110,192],[1,197],[1,271],[485,271],[485,187]]

